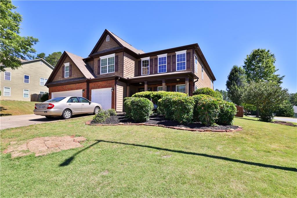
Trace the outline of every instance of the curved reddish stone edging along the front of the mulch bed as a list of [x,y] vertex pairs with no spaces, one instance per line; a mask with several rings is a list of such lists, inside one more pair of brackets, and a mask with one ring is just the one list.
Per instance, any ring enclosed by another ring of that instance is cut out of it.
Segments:
[[86,125],[94,125],[94,126],[117,126],[117,125],[138,125],[138,126],[157,126],[157,127],[164,127],[164,128],[172,128],[172,129],[177,129],[177,130],[186,130],[186,131],[198,131],[198,132],[233,132],[233,131],[241,131],[242,127],[237,126],[237,129],[227,129],[227,130],[212,130],[210,128],[208,129],[194,129],[194,128],[185,128],[185,127],[173,127],[173,126],[165,126],[165,125],[154,125],[154,124],[146,124],[146,123],[118,123],[118,124],[93,124],[91,123],[92,120],[89,120],[86,122]]

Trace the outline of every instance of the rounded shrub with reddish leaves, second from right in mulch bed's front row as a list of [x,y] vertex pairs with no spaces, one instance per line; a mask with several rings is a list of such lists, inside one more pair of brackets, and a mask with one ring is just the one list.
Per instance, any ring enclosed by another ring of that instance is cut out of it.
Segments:
[[209,95],[192,96],[195,101],[193,119],[206,126],[214,125],[219,115],[219,102]]

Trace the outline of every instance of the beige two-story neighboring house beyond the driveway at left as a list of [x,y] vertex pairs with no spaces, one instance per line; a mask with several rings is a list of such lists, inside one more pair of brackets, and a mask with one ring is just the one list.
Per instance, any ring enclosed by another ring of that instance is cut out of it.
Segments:
[[30,101],[31,94],[48,92],[45,86],[54,67],[43,59],[21,60],[21,66],[0,72],[1,100]]

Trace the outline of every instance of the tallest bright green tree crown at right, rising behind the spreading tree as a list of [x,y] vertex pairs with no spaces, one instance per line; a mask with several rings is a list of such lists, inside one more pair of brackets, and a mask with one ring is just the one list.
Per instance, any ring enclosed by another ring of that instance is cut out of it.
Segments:
[[245,70],[247,81],[268,81],[282,84],[285,76],[275,74],[278,70],[274,63],[276,58],[269,50],[254,49],[244,61],[243,68]]

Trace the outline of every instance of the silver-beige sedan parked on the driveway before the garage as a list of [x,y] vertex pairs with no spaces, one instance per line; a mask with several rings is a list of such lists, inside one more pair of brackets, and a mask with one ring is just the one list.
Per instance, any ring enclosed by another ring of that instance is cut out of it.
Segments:
[[64,119],[77,114],[97,114],[102,106],[80,96],[57,97],[43,103],[36,103],[34,114],[47,118],[62,116]]

